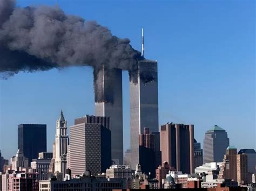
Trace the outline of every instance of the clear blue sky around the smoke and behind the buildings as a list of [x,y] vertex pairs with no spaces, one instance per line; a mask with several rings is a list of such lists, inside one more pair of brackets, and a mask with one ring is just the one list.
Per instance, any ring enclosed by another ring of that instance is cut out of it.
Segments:
[[[158,60],[159,123],[194,124],[204,133],[217,124],[230,144],[255,148],[254,1],[17,0],[19,6],[56,5],[66,13],[97,20],[112,34],[129,38],[145,57]],[[43,37],[42,37],[43,38]],[[130,145],[129,77],[123,73],[124,148]],[[0,80],[0,149],[17,151],[17,125],[47,124],[48,151],[63,109],[68,125],[94,109],[92,69],[52,69]],[[159,125],[160,125],[159,124]]]

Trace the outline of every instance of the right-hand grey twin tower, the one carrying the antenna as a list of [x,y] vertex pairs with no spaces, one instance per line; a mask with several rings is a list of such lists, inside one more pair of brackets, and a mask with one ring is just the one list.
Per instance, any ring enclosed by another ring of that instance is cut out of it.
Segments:
[[[139,134],[143,128],[158,132],[157,61],[140,60],[130,80],[131,168],[139,164]],[[145,72],[147,71],[147,72]],[[146,76],[145,74],[152,75]]]

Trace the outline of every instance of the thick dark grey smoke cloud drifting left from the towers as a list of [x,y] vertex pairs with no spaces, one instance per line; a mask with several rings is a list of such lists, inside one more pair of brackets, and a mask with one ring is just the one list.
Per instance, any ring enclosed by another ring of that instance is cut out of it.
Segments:
[[[133,76],[140,59],[129,39],[113,36],[95,21],[66,15],[58,6],[18,8],[14,0],[0,0],[0,73],[5,76],[91,66],[96,83],[103,65],[127,70]],[[97,102],[102,100],[104,97],[97,96]]]

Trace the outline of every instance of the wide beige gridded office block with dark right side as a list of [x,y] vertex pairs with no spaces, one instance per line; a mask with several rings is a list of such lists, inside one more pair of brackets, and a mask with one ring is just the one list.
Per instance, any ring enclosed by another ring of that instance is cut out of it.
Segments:
[[85,116],[70,126],[70,169],[72,175],[106,172],[111,165],[110,117]]

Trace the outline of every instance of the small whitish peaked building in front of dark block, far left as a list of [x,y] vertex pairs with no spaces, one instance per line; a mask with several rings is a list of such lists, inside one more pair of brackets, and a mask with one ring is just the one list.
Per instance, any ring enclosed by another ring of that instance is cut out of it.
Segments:
[[11,158],[11,166],[14,171],[18,171],[19,167],[27,168],[29,167],[29,159],[24,157],[24,154],[18,149],[15,157]]

